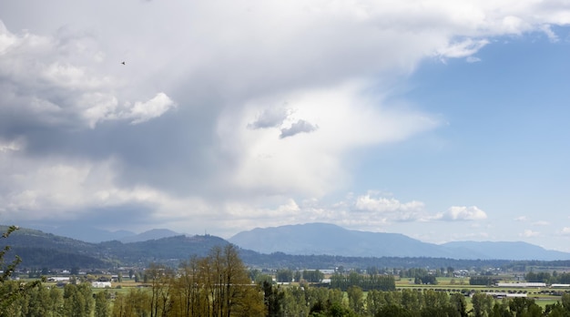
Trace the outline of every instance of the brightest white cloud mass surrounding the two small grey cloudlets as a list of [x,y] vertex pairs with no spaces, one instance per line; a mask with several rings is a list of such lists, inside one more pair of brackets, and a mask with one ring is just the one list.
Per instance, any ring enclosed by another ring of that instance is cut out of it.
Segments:
[[[270,195],[320,197],[350,182],[344,156],[351,149],[402,141],[440,124],[422,112],[385,105],[382,97],[363,96],[361,89],[361,83],[343,83],[252,99],[243,108],[226,109],[217,123],[218,136],[224,155],[238,158],[226,181]],[[284,126],[303,120],[319,128],[302,138],[280,138],[278,129],[247,128],[265,105],[283,100],[297,109]]]

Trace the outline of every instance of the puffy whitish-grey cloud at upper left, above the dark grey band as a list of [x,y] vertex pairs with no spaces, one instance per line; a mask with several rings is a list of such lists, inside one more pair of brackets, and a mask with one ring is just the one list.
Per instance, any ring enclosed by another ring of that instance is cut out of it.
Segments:
[[117,119],[137,124],[160,117],[175,105],[164,92],[147,102],[131,105],[125,100],[119,105],[116,89],[123,84],[93,68],[100,64],[93,57],[99,52],[97,47],[89,50],[85,36],[14,34],[0,21],[0,38],[0,76],[5,78],[0,81],[5,96],[0,114],[15,114],[6,123],[11,126],[30,118],[52,128],[95,128],[99,122]]

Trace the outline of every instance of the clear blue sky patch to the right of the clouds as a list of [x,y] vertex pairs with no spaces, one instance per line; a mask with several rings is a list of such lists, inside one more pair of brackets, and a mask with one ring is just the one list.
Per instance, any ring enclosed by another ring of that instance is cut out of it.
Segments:
[[[405,97],[446,123],[368,153],[359,169],[361,190],[420,199],[430,210],[450,202],[477,205],[488,216],[479,225],[489,228],[473,232],[474,240],[518,239],[565,250],[567,238],[556,231],[569,221],[569,51],[563,39],[531,34],[494,39],[476,62],[425,61],[406,81]],[[446,223],[442,230],[447,226],[454,227]],[[450,229],[448,237],[455,234]]]

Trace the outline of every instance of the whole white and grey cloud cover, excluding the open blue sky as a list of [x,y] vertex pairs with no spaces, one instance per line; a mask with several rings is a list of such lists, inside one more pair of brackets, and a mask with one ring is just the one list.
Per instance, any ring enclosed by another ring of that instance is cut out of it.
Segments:
[[555,40],[570,22],[535,1],[32,3],[0,6],[2,217],[110,228],[93,210],[116,209],[187,232],[485,220],[326,201],[351,191],[355,150],[443,125],[400,90],[422,61],[472,62],[497,36]]

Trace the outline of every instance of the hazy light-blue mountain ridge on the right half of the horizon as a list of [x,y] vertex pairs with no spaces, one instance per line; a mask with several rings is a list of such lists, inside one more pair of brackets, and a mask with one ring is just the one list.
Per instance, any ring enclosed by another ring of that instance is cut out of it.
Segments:
[[429,257],[464,260],[569,260],[570,253],[524,242],[453,242],[442,245],[397,233],[346,230],[325,223],[239,232],[229,242],[261,253],[326,254],[354,257]]

